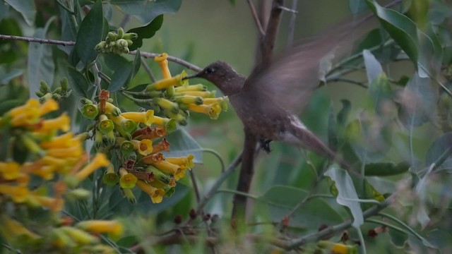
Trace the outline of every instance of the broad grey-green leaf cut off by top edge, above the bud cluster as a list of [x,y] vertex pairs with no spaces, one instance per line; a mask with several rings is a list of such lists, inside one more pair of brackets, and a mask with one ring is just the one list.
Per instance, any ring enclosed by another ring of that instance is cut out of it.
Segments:
[[160,14],[177,12],[182,0],[112,0],[110,3],[123,13],[136,16],[142,23],[147,24]]

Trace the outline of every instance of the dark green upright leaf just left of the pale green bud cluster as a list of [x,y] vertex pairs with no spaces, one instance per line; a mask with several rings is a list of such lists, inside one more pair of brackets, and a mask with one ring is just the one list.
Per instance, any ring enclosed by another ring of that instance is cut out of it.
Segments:
[[94,49],[102,40],[102,28],[104,17],[102,16],[102,1],[97,0],[80,25],[76,40],[76,51],[83,63],[88,64],[97,57]]

